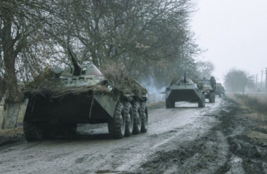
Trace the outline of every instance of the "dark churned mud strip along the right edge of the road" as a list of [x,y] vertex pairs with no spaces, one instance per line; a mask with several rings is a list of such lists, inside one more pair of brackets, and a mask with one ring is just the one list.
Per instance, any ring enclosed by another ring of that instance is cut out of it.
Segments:
[[227,100],[229,104],[213,115],[219,123],[206,136],[191,142],[174,141],[176,149],[153,153],[138,171],[127,174],[267,173],[267,145],[245,136],[258,123],[243,117],[249,110]]

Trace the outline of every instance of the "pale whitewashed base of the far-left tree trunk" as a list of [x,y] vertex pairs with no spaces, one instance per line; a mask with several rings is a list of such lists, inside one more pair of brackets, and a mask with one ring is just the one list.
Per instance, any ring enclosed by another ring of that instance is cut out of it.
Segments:
[[0,118],[0,126],[2,129],[14,128],[17,126],[20,106],[20,103],[5,102],[2,117]]

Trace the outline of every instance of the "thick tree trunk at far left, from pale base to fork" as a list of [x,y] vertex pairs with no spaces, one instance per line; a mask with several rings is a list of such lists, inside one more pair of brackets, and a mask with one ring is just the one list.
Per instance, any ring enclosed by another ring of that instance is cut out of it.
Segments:
[[4,63],[4,80],[2,85],[4,89],[4,109],[2,119],[0,120],[0,128],[14,128],[17,124],[19,115],[20,103],[22,100],[22,93],[18,86],[16,76],[16,58],[24,46],[24,40],[19,31],[15,38],[12,37],[12,22],[14,16],[12,13],[7,12],[5,15],[6,20],[3,21],[1,26],[0,39],[2,44],[2,54]]

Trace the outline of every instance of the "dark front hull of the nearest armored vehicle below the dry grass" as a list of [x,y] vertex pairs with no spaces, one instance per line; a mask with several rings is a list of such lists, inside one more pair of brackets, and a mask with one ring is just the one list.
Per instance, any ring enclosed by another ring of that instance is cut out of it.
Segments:
[[93,95],[92,91],[56,97],[38,94],[28,98],[24,121],[67,123],[104,123],[112,118],[118,99]]

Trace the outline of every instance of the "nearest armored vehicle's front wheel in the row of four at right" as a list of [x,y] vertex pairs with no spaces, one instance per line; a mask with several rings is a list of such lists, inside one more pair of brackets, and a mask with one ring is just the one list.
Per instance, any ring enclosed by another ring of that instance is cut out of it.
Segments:
[[125,115],[122,103],[118,102],[112,119],[108,122],[109,133],[113,138],[121,139],[125,133]]

